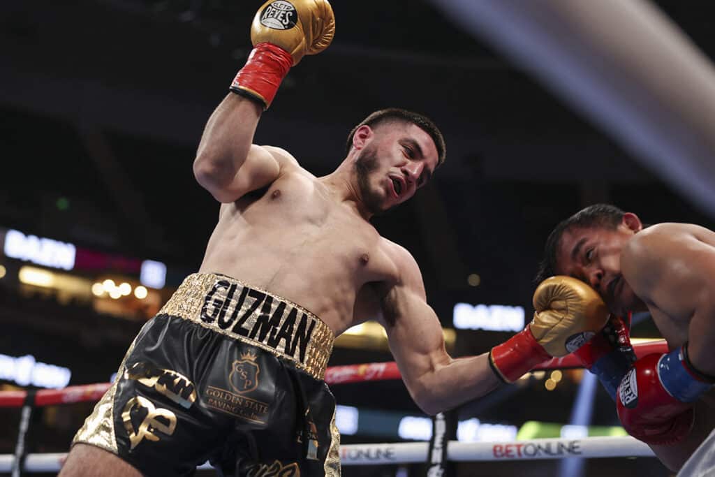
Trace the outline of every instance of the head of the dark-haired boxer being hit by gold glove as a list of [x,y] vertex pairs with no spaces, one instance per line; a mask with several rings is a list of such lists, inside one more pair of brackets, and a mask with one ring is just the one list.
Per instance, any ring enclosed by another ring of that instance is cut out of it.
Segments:
[[638,216],[613,205],[591,205],[556,225],[546,240],[536,280],[569,275],[593,287],[612,313],[642,308],[621,275],[621,250],[643,229]]

